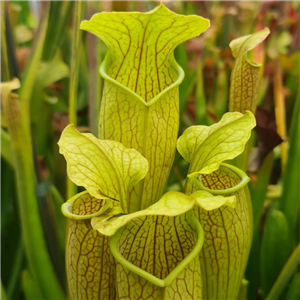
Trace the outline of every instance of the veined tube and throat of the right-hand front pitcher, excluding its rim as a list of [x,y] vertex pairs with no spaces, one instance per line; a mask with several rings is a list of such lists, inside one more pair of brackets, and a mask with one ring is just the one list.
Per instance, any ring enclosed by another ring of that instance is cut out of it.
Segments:
[[[202,183],[211,190],[224,190],[237,185],[238,174],[221,166],[209,175],[202,175]],[[191,182],[187,193],[197,187]],[[228,194],[231,195],[231,194]],[[203,282],[203,299],[237,299],[239,287],[245,272],[252,236],[252,208],[248,188],[234,193],[235,208],[222,206],[205,211],[194,209],[204,229],[204,245],[200,252]]]

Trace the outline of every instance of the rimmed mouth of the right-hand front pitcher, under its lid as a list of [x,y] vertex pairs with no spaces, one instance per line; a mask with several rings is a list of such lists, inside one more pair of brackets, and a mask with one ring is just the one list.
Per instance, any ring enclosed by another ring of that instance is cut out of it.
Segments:
[[197,179],[200,189],[214,195],[232,194],[250,181],[242,170],[225,163],[211,174],[199,174]]

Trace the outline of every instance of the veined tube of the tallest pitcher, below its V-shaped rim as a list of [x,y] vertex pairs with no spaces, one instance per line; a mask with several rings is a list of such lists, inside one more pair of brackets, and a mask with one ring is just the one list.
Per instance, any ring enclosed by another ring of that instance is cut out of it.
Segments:
[[105,84],[100,138],[137,149],[149,163],[146,178],[129,191],[129,212],[145,209],[161,197],[174,160],[178,113],[177,88],[148,108],[122,88]]

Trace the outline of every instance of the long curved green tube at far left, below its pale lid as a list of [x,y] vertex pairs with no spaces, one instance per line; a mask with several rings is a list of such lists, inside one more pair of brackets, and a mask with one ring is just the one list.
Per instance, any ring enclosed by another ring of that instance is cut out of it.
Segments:
[[44,239],[35,194],[36,177],[32,165],[32,152],[24,142],[27,131],[23,127],[21,108],[16,95],[7,99],[3,97],[2,108],[16,166],[19,213],[29,269],[43,292],[44,299],[63,299],[64,294],[57,281]]

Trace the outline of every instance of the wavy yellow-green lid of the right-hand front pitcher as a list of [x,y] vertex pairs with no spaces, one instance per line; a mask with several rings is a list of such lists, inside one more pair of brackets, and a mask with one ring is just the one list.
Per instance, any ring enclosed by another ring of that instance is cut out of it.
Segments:
[[255,124],[251,112],[245,115],[236,112],[225,114],[219,123],[210,127],[189,127],[177,142],[180,154],[191,162],[189,176],[209,174],[223,161],[242,153]]

